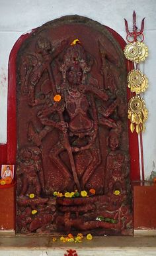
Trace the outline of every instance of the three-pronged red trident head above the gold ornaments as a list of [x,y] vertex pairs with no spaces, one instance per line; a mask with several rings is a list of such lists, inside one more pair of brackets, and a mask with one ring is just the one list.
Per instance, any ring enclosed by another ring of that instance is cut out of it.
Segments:
[[[141,21],[140,31],[137,31],[136,13],[134,11],[134,13],[133,13],[133,32],[130,32],[128,29],[128,22],[126,21],[126,19],[124,19],[126,32],[127,32],[126,39],[128,40],[128,42],[136,42],[138,39],[139,39],[139,42],[143,42],[143,40],[144,40],[144,36],[143,36],[144,20],[145,20],[145,18],[143,18],[143,20]],[[132,40],[130,40],[130,38],[132,38]]]

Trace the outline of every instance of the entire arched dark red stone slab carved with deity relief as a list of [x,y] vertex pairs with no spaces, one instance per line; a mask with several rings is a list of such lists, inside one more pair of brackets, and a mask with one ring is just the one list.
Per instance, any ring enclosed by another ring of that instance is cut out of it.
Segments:
[[[132,228],[125,61],[111,34],[83,19],[63,18],[39,28],[18,53],[21,233],[103,235]],[[81,196],[84,190],[89,197]]]

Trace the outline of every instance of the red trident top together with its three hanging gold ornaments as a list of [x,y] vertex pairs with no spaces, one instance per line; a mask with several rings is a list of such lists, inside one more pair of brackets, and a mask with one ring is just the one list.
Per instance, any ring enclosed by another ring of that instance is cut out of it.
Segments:
[[[145,19],[145,18],[144,18]],[[137,31],[136,13],[133,13],[133,32],[128,29],[128,22],[125,19],[128,44],[124,48],[124,55],[128,60],[134,62],[134,70],[128,73],[128,88],[135,93],[128,103],[128,119],[130,119],[130,130],[132,133],[136,129],[137,134],[145,131],[145,121],[148,118],[148,111],[142,94],[148,88],[147,76],[139,70],[139,63],[148,56],[148,48],[143,43],[144,19],[141,22],[141,29]]]

